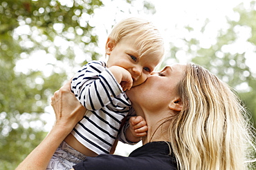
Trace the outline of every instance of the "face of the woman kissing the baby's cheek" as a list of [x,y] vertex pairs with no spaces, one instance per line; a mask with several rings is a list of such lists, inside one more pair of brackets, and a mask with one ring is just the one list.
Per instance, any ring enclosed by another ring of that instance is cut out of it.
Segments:
[[170,102],[179,97],[176,88],[183,78],[185,67],[181,64],[166,66],[161,72],[152,72],[145,83],[127,90],[133,106],[150,111],[169,107]]

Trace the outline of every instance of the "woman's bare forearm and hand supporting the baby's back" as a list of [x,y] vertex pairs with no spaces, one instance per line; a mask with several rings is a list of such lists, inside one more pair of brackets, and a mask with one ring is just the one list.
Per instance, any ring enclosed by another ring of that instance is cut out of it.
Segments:
[[73,127],[82,119],[86,109],[71,93],[71,81],[55,92],[51,98],[56,122],[44,140],[19,164],[19,169],[46,169],[53,153],[60,143],[71,133]]

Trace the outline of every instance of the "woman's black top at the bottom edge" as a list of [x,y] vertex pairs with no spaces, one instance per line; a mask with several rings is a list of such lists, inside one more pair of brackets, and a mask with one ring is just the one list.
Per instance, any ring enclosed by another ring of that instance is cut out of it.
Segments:
[[75,170],[176,170],[176,159],[169,155],[166,142],[149,142],[131,152],[129,157],[101,154],[86,157],[86,160],[73,166]]

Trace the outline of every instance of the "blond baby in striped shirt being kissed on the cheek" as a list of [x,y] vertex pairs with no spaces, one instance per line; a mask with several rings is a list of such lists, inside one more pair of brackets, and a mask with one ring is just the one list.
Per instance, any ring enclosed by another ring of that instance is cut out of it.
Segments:
[[147,134],[145,120],[133,114],[125,91],[147,80],[160,63],[163,39],[144,19],[129,18],[118,23],[106,43],[107,63],[91,61],[75,74],[71,91],[87,111],[55,152],[48,169],[71,169],[86,156],[113,153],[116,139],[129,144]]

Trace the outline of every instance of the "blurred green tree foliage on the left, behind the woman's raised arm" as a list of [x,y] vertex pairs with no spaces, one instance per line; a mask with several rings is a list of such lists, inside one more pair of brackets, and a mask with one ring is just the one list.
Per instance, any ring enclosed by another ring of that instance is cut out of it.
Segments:
[[[131,8],[133,1],[122,3]],[[100,0],[1,1],[1,169],[15,169],[46,136],[46,108],[68,74],[99,58],[91,21],[102,6]]]

